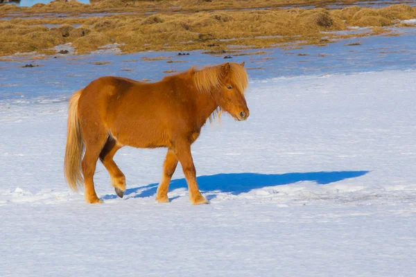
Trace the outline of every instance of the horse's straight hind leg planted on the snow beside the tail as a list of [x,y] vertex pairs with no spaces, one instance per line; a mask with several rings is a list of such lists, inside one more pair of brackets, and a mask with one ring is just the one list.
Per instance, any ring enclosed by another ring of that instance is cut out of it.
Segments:
[[85,201],[90,204],[102,203],[96,195],[94,189],[94,172],[96,170],[96,164],[100,155],[101,149],[103,149],[107,134],[105,132],[96,132],[85,136],[85,154],[83,158],[83,175],[85,182]]

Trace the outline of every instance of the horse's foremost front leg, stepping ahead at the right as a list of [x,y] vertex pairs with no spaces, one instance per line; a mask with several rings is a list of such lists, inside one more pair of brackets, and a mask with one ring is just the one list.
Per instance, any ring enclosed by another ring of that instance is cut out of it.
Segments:
[[196,183],[196,169],[193,165],[191,144],[189,142],[177,143],[175,145],[175,152],[187,179],[189,199],[191,199],[192,204],[208,204],[207,199],[201,195],[198,184]]

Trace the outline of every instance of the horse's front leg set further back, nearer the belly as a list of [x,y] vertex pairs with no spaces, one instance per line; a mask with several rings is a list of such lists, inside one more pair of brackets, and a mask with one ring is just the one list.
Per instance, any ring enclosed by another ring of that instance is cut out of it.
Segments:
[[159,203],[166,203],[169,202],[168,199],[168,189],[169,183],[171,182],[172,175],[175,173],[177,166],[177,157],[173,150],[169,149],[166,153],[166,158],[163,163],[163,173],[162,173],[162,181],[159,183],[159,187],[157,187],[156,193],[156,201]]

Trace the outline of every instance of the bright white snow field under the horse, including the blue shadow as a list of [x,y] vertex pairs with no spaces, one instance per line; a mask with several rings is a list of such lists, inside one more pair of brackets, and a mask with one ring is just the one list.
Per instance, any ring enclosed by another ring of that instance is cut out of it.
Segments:
[[166,150],[123,148],[116,198],[64,183],[66,102],[0,106],[0,276],[415,276],[416,71],[255,80],[250,118],[193,144],[209,205]]

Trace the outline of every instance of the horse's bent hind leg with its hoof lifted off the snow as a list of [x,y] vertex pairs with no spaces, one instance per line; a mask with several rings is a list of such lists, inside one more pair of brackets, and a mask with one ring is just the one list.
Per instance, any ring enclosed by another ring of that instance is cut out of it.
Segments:
[[116,194],[121,198],[123,197],[125,191],[125,177],[123,172],[121,172],[120,168],[114,162],[113,157],[117,150],[122,147],[123,145],[119,145],[115,139],[109,136],[103,150],[101,150],[100,153],[100,159],[105,168],[107,168],[108,173],[110,173],[111,184],[114,186]]

